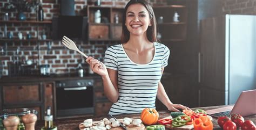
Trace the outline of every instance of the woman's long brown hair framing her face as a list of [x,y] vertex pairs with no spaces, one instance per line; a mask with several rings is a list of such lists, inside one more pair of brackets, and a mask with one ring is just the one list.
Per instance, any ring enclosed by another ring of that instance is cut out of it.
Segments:
[[130,5],[132,4],[142,4],[147,12],[149,12],[150,15],[150,21],[152,26],[149,26],[147,28],[147,39],[150,42],[156,42],[157,40],[157,23],[156,23],[156,17],[154,16],[154,11],[152,9],[152,6],[147,3],[145,0],[131,0],[128,2],[125,6],[124,12],[123,12],[123,24],[122,24],[122,37],[121,37],[121,43],[126,43],[130,39],[130,32],[127,30],[127,27],[125,26],[125,21],[126,21],[126,11],[129,8]]

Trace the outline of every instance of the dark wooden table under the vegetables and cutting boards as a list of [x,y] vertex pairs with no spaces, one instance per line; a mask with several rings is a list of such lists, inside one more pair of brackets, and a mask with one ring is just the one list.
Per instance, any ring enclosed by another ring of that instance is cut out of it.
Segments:
[[[203,109],[203,110],[210,110],[210,109],[217,109],[219,107],[223,106],[210,106],[210,107],[198,107],[198,108],[193,108],[192,110],[195,109]],[[158,111],[159,113],[159,118],[165,118],[170,116],[170,111]],[[140,113],[138,114],[122,114],[122,115],[116,115],[115,116],[117,119],[121,119],[124,117],[130,117],[130,118],[140,118]],[[100,116],[100,117],[91,117],[93,120],[102,120],[103,118],[107,118],[107,116]],[[252,120],[254,124],[256,124],[256,114],[250,115],[248,117],[244,117],[245,120]],[[82,123],[85,119],[89,119],[88,117],[82,117],[82,118],[70,118],[70,119],[56,119],[53,120],[54,126],[57,126],[58,129],[79,129],[78,125]],[[38,120],[36,124],[36,129],[41,129],[41,127],[44,126],[44,121],[43,120]],[[214,129],[221,129],[217,123],[217,119],[213,118],[213,128]],[[179,128],[175,128],[179,129]]]

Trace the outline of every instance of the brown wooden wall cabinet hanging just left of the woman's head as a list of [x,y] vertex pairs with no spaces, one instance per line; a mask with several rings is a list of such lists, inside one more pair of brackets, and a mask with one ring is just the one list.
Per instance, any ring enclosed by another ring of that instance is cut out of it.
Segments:
[[[87,6],[88,40],[119,41],[122,34],[123,8],[112,6]],[[100,11],[100,22],[95,22],[96,12]]]

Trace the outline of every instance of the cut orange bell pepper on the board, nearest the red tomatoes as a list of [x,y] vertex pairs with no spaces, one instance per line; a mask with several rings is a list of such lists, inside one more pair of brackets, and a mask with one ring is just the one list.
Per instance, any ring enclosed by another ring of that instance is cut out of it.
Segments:
[[194,130],[212,130],[213,124],[212,121],[206,117],[201,116],[193,121]]

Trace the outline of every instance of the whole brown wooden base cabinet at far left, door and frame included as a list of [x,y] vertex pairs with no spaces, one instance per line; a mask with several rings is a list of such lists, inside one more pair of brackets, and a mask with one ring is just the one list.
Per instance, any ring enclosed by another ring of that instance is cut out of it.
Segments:
[[38,119],[44,114],[44,88],[42,83],[10,83],[1,86],[3,109],[29,108],[38,111]]

